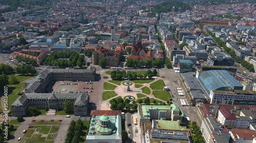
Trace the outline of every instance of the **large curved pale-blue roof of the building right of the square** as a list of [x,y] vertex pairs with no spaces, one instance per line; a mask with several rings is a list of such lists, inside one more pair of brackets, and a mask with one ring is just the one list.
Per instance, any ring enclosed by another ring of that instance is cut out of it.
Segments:
[[234,91],[243,90],[243,85],[238,82],[228,71],[210,70],[205,72],[197,72],[196,77],[202,84],[203,88],[210,95],[212,90],[216,91]]

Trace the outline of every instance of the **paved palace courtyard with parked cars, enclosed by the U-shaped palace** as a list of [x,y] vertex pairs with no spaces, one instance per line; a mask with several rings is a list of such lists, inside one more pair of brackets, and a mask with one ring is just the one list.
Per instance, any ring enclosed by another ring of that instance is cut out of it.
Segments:
[[56,81],[53,85],[55,93],[91,93],[93,90],[93,81]]

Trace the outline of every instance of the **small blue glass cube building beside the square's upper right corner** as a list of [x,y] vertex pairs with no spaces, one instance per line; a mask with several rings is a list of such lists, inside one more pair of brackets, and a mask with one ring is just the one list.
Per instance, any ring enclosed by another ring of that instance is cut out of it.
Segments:
[[181,73],[193,71],[193,62],[187,59],[179,59],[178,69]]

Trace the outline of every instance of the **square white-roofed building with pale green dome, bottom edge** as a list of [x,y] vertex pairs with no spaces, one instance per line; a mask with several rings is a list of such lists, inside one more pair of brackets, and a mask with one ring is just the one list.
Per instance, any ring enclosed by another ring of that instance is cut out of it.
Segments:
[[98,143],[109,142],[116,143],[122,142],[122,125],[120,115],[102,115],[92,116],[86,142]]

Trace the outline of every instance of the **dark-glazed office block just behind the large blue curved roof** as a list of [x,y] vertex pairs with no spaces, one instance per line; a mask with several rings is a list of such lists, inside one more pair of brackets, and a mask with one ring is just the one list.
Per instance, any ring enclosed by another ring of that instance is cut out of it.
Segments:
[[210,66],[234,66],[234,59],[223,52],[212,50],[207,58],[207,65]]

